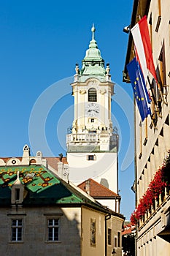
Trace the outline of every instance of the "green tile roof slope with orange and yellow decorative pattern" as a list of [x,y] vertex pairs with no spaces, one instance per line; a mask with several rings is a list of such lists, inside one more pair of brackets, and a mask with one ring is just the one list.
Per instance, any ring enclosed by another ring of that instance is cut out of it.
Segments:
[[0,205],[10,202],[11,187],[19,172],[21,184],[28,195],[23,204],[30,203],[82,203],[82,196],[55,177],[43,165],[0,167]]

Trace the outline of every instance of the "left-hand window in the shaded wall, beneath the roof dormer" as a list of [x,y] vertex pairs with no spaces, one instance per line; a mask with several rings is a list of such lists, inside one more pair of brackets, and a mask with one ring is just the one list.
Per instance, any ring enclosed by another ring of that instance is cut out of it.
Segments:
[[23,219],[12,219],[12,241],[22,241]]

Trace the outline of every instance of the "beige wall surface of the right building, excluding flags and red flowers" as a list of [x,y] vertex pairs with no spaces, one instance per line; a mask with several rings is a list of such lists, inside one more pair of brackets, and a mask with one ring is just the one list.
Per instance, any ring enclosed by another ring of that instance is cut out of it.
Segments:
[[[144,15],[144,3],[139,1],[137,15]],[[146,1],[149,3],[149,1]],[[170,149],[170,1],[151,0],[147,14],[147,22],[152,42],[152,55],[157,74],[163,67],[162,96],[156,98],[157,102],[151,104],[152,116],[148,116],[143,122],[139,117],[139,110],[136,107],[136,184],[137,203],[146,192],[150,181],[158,168],[162,165],[163,159]],[[159,22],[159,16],[161,22]],[[136,18],[136,22],[139,19]],[[164,54],[163,61],[161,54]],[[163,64],[164,62],[164,64]],[[162,75],[161,75],[162,76]],[[158,76],[159,77],[159,76]],[[152,82],[152,75],[149,76]],[[159,80],[161,77],[159,78]],[[147,89],[150,91],[149,83]],[[159,89],[157,90],[159,91]],[[150,91],[152,95],[152,92]],[[156,94],[155,94],[156,97]],[[160,102],[158,102],[160,101]],[[158,106],[160,108],[158,108]],[[161,197],[160,197],[161,198]],[[169,255],[170,244],[166,241],[166,234],[170,236],[170,230],[163,231],[169,225],[169,194],[163,200],[159,200],[156,210],[152,209],[144,219],[139,221],[137,233],[137,255],[138,256],[164,256]],[[163,233],[164,232],[164,233]],[[161,236],[163,234],[163,236]]]

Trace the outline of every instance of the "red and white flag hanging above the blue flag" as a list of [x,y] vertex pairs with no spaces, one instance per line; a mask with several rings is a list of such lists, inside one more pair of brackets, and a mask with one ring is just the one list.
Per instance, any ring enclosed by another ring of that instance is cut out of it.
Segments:
[[152,58],[152,47],[146,15],[131,29],[131,34],[134,39],[136,59],[141,66],[145,82],[147,80],[148,70],[158,82]]

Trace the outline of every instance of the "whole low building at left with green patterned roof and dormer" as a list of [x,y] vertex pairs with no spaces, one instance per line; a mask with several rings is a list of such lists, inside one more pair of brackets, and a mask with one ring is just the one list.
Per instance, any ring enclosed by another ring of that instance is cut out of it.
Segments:
[[23,157],[0,159],[0,254],[121,255],[123,216],[52,173],[49,160],[27,145]]

